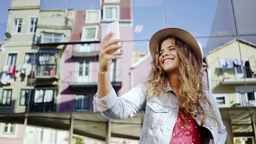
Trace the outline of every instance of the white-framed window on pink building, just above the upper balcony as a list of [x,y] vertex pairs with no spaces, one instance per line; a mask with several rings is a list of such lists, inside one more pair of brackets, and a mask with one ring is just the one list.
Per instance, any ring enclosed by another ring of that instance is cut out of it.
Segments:
[[81,41],[93,41],[98,39],[98,26],[84,26]]

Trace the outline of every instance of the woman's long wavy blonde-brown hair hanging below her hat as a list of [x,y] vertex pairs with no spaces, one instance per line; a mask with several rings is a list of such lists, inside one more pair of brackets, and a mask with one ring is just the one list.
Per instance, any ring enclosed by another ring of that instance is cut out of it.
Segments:
[[[152,70],[149,77],[145,80],[145,85],[148,88],[147,99],[150,100],[153,96],[160,96],[164,93],[167,86],[168,78],[163,68],[159,63],[159,52],[161,44],[164,40],[172,39],[173,45],[180,57],[178,70],[178,89],[179,89],[179,114],[184,120],[184,129],[188,130],[188,122],[186,117],[182,115],[183,112],[191,116],[194,120],[197,114],[202,117],[201,126],[204,125],[206,118],[214,119],[220,130],[220,122],[216,119],[216,114],[212,108],[208,98],[204,96],[203,89],[206,88],[202,82],[203,73],[201,72],[202,65],[200,59],[190,50],[189,46],[179,40],[178,38],[167,36],[156,44],[155,57],[152,60]],[[208,103],[210,105],[210,113],[206,113],[202,106]]]

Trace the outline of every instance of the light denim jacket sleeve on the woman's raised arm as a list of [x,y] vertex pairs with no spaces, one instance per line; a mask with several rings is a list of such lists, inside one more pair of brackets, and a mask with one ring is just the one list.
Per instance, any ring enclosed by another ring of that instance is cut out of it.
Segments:
[[130,118],[145,110],[146,96],[144,85],[136,86],[123,96],[117,97],[112,88],[104,98],[98,98],[98,92],[94,95],[94,112],[109,119]]

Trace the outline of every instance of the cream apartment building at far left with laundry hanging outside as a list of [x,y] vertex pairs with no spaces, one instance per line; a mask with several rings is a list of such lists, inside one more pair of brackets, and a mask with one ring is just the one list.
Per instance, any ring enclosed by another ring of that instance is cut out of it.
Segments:
[[[60,52],[63,47],[37,44],[51,40],[68,42],[75,11],[40,12],[40,0],[12,0],[8,10],[6,40],[1,46],[0,113],[56,111],[56,75],[61,68],[59,61],[62,60]],[[49,21],[52,23],[47,23]],[[66,134],[68,132],[63,130],[42,127],[26,126],[25,129],[22,122],[15,124],[12,120],[0,123],[2,144],[65,143],[68,142]]]

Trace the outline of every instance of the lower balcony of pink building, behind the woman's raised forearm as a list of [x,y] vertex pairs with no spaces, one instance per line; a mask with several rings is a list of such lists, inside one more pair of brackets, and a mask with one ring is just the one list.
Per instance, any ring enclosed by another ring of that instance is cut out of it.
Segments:
[[[113,87],[122,87],[122,70],[112,70],[110,80]],[[93,88],[98,85],[98,72],[92,71],[71,71],[68,85],[70,88]]]

